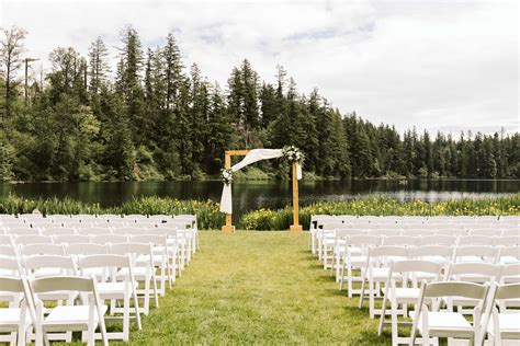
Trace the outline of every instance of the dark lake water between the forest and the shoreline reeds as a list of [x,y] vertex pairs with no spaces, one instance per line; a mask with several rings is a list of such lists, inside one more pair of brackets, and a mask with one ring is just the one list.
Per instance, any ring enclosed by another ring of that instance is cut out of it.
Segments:
[[[259,208],[281,208],[291,201],[291,182],[260,181],[233,184],[234,212]],[[450,198],[485,198],[520,192],[520,181],[409,180],[301,182],[299,200],[305,206],[317,200],[346,200],[383,194],[402,200],[428,201]],[[114,206],[137,196],[168,196],[179,199],[221,200],[222,183],[214,182],[122,182],[122,183],[0,183],[0,196],[70,197],[102,206]]]

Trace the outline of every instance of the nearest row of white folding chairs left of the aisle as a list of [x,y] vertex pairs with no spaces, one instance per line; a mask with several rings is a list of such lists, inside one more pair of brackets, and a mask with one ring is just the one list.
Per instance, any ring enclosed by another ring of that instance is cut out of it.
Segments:
[[[7,333],[0,335],[0,342],[25,345],[34,341],[36,346],[43,346],[54,339],[71,342],[71,332],[81,332],[82,341],[93,346],[95,330],[99,327],[101,333],[98,339],[102,339],[103,345],[109,345],[104,321],[108,308],[102,302],[99,285],[93,277],[26,279],[24,276],[0,276],[0,301],[10,303],[9,308],[0,308],[0,331]],[[39,297],[56,291],[71,297],[79,293],[81,299],[75,299],[74,304],[44,309],[44,301]],[[19,299],[12,301],[12,296],[18,296]],[[140,318],[138,319],[140,330]]]

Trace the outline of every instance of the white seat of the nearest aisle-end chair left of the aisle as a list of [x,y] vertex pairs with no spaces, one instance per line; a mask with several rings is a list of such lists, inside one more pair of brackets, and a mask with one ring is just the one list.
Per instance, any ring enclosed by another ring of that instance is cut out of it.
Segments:
[[[64,305],[54,308],[42,323],[45,332],[63,331],[87,331],[89,325],[89,305]],[[101,307],[104,315],[108,307]],[[94,324],[98,324],[99,316],[94,313]]]

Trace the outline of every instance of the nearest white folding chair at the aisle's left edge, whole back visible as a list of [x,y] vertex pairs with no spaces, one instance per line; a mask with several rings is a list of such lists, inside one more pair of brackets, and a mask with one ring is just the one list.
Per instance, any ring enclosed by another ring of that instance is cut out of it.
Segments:
[[[52,339],[56,332],[83,332],[83,339],[89,346],[95,343],[95,328],[101,328],[103,345],[108,346],[106,328],[104,324],[104,305],[99,297],[94,278],[56,276],[38,278],[30,281],[33,300],[36,308],[36,345],[43,345],[44,338]],[[45,313],[44,304],[38,297],[53,292],[81,292],[83,304],[58,305]]]

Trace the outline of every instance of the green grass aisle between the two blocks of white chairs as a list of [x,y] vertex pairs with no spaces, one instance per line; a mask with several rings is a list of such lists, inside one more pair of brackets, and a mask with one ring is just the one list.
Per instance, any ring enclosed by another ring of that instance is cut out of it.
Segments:
[[389,343],[313,258],[307,233],[200,234],[200,252],[132,344]]

